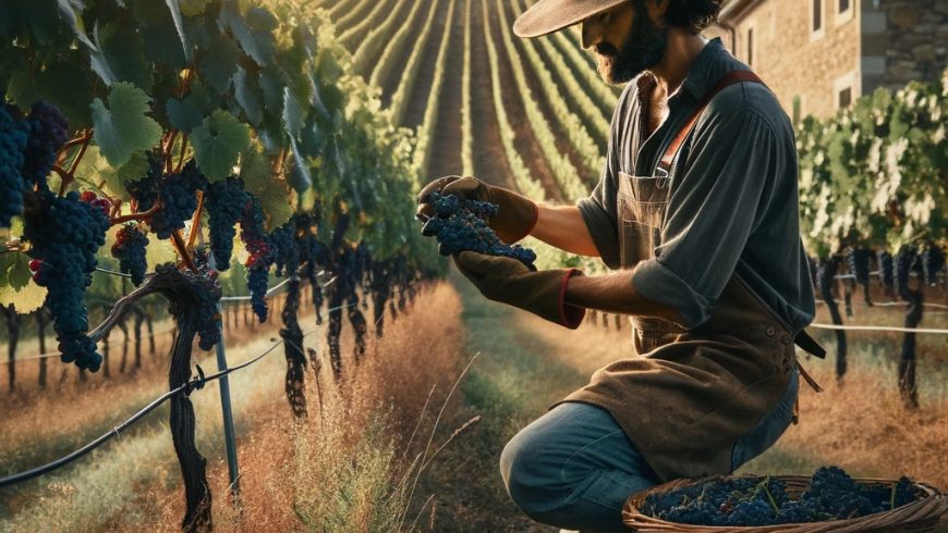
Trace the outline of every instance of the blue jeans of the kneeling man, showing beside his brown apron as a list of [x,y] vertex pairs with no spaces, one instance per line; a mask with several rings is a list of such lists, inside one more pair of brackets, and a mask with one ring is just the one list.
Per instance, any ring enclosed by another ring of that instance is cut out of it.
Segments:
[[[769,448],[790,425],[799,377],[777,407],[736,444],[731,468]],[[518,433],[500,456],[510,497],[530,518],[558,528],[628,531],[622,506],[661,483],[608,411],[561,404]]]

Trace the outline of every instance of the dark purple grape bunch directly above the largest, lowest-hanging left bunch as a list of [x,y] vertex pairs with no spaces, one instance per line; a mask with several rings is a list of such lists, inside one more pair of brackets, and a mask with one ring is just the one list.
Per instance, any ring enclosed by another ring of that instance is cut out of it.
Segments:
[[69,140],[69,121],[56,107],[38,101],[29,108],[25,122],[29,138],[24,152],[23,178],[29,186],[47,190],[46,178],[52,171],[59,149]]

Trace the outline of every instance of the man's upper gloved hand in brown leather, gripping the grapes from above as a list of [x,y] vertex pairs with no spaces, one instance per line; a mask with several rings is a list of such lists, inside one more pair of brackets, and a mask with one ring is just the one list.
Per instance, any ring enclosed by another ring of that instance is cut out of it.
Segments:
[[443,176],[429,183],[418,193],[418,209],[415,215],[422,222],[427,222],[434,214],[430,204],[433,193],[496,203],[500,209],[490,218],[490,228],[500,240],[509,245],[530,235],[539,215],[536,203],[512,190],[487,185],[476,177]]

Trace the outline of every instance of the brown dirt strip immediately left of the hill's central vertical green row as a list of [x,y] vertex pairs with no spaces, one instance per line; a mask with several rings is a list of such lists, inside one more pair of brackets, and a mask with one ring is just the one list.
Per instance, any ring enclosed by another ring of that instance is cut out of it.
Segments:
[[464,5],[460,0],[454,5],[450,21],[451,42],[448,46],[445,80],[438,106],[438,122],[432,141],[432,161],[428,174],[432,177],[461,174],[461,78],[464,69]]

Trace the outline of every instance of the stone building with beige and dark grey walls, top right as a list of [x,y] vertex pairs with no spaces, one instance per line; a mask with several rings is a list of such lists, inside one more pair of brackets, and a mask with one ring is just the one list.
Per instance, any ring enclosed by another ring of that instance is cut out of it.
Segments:
[[935,80],[948,64],[948,0],[725,0],[721,37],[794,119],[831,115],[876,87]]

